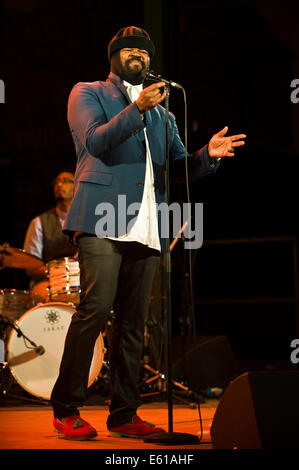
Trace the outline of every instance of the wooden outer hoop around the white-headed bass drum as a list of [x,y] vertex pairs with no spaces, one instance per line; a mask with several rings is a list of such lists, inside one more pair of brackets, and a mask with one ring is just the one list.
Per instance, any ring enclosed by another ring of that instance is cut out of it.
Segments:
[[[71,302],[45,302],[45,303],[39,303],[38,305],[35,305],[34,307],[30,308],[29,310],[27,310],[26,312],[24,312],[20,318],[18,318],[17,320],[15,320],[13,322],[14,325],[18,326],[18,323],[19,321],[27,316],[31,311],[33,310],[36,310],[37,308],[40,308],[40,307],[43,307],[43,306],[47,306],[47,305],[60,305],[60,306],[68,306],[68,307],[72,307],[75,311],[75,305],[72,304]],[[6,343],[6,359],[7,359],[7,365],[9,367],[9,370],[10,370],[10,373],[11,375],[13,376],[14,380],[18,383],[18,385],[20,385],[21,388],[23,388],[23,390],[25,390],[27,393],[29,393],[30,395],[33,395],[37,398],[40,398],[42,400],[46,400],[46,401],[50,401],[50,398],[47,398],[47,397],[44,397],[40,394],[37,394],[36,392],[32,392],[32,390],[30,390],[26,385],[23,384],[23,382],[19,379],[19,377],[17,377],[17,374],[16,372],[13,370],[14,366],[10,366],[9,365],[9,360],[10,360],[10,357],[9,357],[9,345],[10,345],[10,342],[11,342],[11,338],[13,336],[13,334],[16,334],[16,331],[12,328],[11,329],[11,332],[9,333],[8,335],[8,338],[7,338],[7,343]],[[103,361],[104,361],[104,355],[105,355],[105,344],[104,344],[104,337],[103,337],[103,334],[102,332],[100,332],[100,334],[98,335],[96,341],[95,341],[95,344],[96,342],[99,341],[99,351],[100,351],[100,360],[99,360],[99,364],[97,365],[96,367],[96,370],[95,370],[95,374],[94,374],[94,378],[91,378],[88,380],[88,384],[87,384],[87,387],[91,387],[93,385],[93,383],[95,382],[96,378],[99,376],[99,373],[102,369],[102,365],[103,365]]]

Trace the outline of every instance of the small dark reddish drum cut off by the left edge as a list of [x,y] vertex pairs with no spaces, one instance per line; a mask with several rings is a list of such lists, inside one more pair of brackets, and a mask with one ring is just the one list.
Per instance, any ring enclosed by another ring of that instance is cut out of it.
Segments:
[[14,322],[23,315],[29,307],[30,296],[27,290],[0,290],[0,314],[9,318],[9,320]]

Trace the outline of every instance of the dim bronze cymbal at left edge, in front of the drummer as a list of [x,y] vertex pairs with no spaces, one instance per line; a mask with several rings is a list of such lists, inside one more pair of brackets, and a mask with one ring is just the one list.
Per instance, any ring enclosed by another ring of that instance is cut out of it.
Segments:
[[13,248],[8,243],[0,245],[0,269],[35,269],[44,265],[43,260],[20,248]]

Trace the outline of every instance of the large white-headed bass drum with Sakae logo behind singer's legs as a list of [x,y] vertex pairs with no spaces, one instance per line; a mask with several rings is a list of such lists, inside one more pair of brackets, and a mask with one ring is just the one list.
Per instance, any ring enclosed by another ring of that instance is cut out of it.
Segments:
[[[36,397],[50,400],[74,312],[72,304],[48,302],[28,310],[15,323],[30,341],[42,346],[44,353],[41,355],[35,352],[26,338],[19,337],[16,330],[9,335],[7,361],[10,371],[17,383]],[[100,373],[104,354],[104,341],[100,334],[94,347],[88,387]]]

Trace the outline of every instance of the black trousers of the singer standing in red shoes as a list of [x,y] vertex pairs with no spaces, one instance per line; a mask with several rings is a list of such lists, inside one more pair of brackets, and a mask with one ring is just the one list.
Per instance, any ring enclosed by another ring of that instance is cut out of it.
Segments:
[[81,296],[66,336],[51,402],[54,416],[78,414],[87,398],[94,344],[115,301],[109,366],[111,391],[107,427],[129,422],[140,405],[137,383],[144,322],[160,253],[140,243],[97,237],[79,239]]

